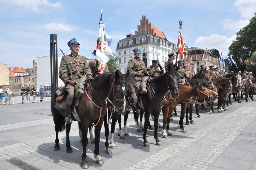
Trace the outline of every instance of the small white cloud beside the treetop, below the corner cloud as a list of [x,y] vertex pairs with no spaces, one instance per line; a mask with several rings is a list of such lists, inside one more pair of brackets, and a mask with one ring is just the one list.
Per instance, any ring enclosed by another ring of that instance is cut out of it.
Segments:
[[233,21],[231,19],[225,19],[221,23],[223,24],[223,29],[231,29],[234,32],[238,32],[240,29],[248,25],[250,21],[249,20]]

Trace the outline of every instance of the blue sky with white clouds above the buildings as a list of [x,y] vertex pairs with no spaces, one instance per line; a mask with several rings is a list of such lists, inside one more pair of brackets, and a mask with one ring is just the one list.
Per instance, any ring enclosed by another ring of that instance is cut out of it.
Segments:
[[79,54],[93,59],[101,8],[105,31],[113,41],[135,34],[146,18],[177,45],[179,21],[188,47],[215,48],[225,56],[239,29],[249,24],[256,0],[0,0],[0,63],[7,67],[33,67],[32,57],[50,56],[50,34],[57,34],[59,48],[69,53],[73,37]]

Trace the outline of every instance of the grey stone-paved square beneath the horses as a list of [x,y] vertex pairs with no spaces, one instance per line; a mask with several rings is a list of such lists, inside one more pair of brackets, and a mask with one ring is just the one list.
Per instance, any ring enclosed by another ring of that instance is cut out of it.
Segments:
[[[110,155],[105,153],[102,128],[100,155],[104,165],[96,164],[94,144],[89,142],[89,169],[256,169],[255,104],[253,101],[242,104],[233,101],[228,111],[215,114],[201,110],[201,118],[193,114],[195,124],[184,125],[187,133],[179,129],[178,106],[178,116],[170,123],[173,136],[164,139],[158,129],[162,146],[157,146],[154,131],[148,130],[150,147],[142,145],[143,133],[136,131],[131,114],[127,120],[130,136],[120,139],[116,126],[117,149]],[[55,131],[49,101],[0,108],[0,169],[81,169],[82,145],[77,122],[73,122],[70,131],[73,153],[66,153],[65,132],[59,133],[60,150],[54,151]],[[162,119],[161,114],[160,123]]]

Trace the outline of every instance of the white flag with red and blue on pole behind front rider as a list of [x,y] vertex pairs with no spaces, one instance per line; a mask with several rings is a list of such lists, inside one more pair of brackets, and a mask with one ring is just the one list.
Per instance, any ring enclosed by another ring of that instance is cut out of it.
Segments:
[[109,36],[103,29],[105,27],[105,24],[103,24],[101,21],[99,22],[99,38],[97,40],[97,49],[96,49],[96,55],[95,59],[97,59],[100,62],[98,74],[102,74],[102,71],[105,68],[106,63],[109,59],[113,57],[113,54],[110,49],[110,44],[112,41],[111,36]]

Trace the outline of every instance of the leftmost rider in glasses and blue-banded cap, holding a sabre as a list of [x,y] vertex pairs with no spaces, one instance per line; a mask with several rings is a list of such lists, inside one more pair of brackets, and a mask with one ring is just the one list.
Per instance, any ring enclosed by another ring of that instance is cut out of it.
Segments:
[[[69,46],[69,50],[71,50],[71,54],[66,56],[67,61],[65,56],[62,56],[59,64],[59,78],[63,83],[65,83],[65,90],[68,92],[66,100],[66,123],[72,123],[72,118],[69,114],[72,109],[75,85],[77,81],[84,76],[84,74],[89,80],[92,80],[93,76],[90,68],[88,67],[86,57],[78,55],[80,44],[77,40],[72,38],[67,44]],[[72,80],[67,63],[71,68],[74,81]]]

